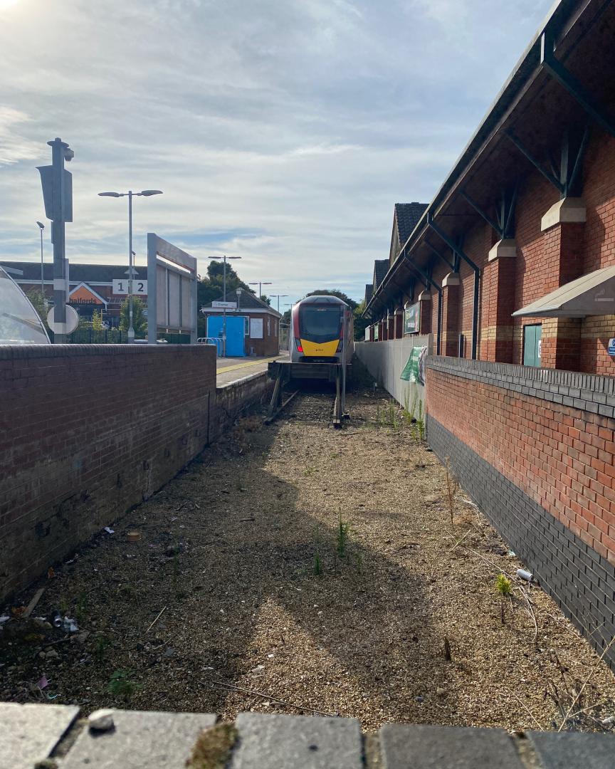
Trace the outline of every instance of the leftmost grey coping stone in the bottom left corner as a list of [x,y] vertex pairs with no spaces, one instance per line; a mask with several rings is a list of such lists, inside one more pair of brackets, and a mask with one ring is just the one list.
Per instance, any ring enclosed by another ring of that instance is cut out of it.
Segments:
[[32,769],[44,761],[78,713],[68,705],[0,703],[0,769]]

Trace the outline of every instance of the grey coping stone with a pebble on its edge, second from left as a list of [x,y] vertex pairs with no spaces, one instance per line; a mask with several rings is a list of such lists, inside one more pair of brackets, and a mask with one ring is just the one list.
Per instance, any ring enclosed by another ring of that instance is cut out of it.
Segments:
[[85,727],[62,769],[185,769],[199,732],[215,721],[209,714],[113,711],[115,729]]

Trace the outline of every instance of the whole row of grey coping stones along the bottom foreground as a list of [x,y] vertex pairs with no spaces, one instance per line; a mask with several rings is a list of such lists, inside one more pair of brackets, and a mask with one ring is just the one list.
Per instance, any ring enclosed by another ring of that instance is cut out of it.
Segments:
[[[214,714],[113,710],[115,728],[93,734],[78,707],[0,702],[0,769],[32,769],[53,758],[62,769],[180,769]],[[354,718],[241,713],[229,769],[607,769],[610,734],[507,734],[425,724],[384,724],[361,734]],[[44,739],[42,739],[44,735]],[[33,750],[31,750],[33,748]],[[522,758],[523,757],[523,758]],[[529,763],[528,763],[529,761]],[[495,762],[495,764],[494,764]]]

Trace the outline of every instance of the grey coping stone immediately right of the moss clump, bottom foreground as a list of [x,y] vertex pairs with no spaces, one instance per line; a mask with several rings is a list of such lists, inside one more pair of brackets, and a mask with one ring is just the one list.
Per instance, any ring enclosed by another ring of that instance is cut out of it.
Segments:
[[356,718],[241,713],[231,769],[361,769]]

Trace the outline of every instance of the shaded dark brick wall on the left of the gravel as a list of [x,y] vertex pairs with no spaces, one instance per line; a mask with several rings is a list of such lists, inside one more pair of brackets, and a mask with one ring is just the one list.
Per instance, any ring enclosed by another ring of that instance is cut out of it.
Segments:
[[0,347],[0,598],[194,458],[214,388],[208,345]]

